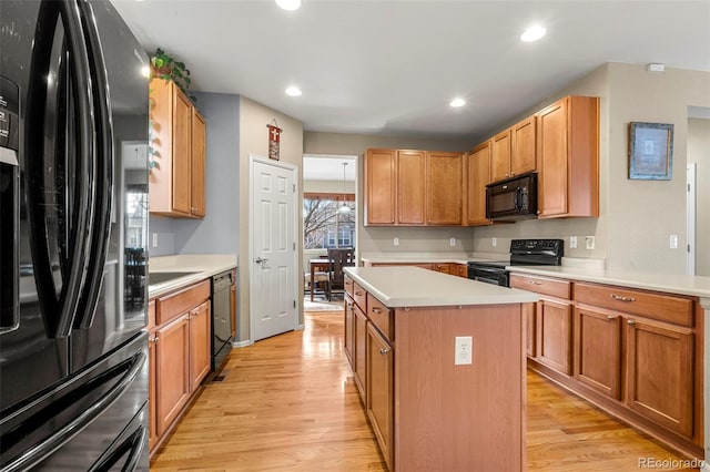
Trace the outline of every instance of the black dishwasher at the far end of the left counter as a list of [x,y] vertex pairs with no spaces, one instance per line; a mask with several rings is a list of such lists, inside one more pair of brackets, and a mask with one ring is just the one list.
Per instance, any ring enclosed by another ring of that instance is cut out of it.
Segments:
[[222,367],[232,340],[232,271],[212,277],[212,371]]

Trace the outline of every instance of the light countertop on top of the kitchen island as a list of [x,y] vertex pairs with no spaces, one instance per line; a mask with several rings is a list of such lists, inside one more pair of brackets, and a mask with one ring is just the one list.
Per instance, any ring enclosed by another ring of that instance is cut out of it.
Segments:
[[344,270],[389,308],[520,304],[538,299],[525,290],[419,267],[345,267]]

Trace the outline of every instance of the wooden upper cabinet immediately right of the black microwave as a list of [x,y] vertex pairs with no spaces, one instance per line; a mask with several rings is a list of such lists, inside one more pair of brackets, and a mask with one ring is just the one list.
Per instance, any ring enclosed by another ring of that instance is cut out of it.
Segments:
[[538,216],[599,216],[599,99],[567,96],[536,116]]

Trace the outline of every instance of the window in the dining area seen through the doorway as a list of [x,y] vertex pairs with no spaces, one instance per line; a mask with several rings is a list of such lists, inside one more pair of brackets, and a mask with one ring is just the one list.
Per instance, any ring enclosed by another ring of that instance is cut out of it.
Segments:
[[[342,212],[345,204],[348,212]],[[303,195],[303,247],[352,247],[355,240],[355,195]]]

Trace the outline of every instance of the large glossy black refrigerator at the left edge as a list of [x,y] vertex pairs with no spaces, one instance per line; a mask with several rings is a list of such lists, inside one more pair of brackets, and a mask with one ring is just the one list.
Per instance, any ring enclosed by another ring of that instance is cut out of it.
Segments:
[[0,55],[0,469],[148,470],[148,57],[100,0]]

